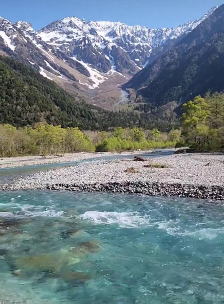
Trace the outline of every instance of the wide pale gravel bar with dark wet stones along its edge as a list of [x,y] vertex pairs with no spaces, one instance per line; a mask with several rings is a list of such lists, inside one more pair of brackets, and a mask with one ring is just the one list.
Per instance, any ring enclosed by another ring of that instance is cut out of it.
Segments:
[[[151,163],[166,168],[149,168]],[[134,168],[135,173],[128,173]],[[14,181],[5,190],[53,189],[124,192],[224,200],[224,154],[184,154],[79,164],[39,172]]]

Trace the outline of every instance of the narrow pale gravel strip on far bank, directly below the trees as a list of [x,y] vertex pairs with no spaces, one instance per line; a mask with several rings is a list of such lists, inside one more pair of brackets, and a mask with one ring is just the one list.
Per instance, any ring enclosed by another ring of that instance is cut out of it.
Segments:
[[[175,150],[175,149],[169,149]],[[140,151],[124,151],[124,152],[95,152],[95,153],[68,153],[62,156],[47,155],[46,157],[34,155],[34,156],[20,156],[20,157],[4,157],[0,159],[0,169],[3,168],[15,168],[23,166],[41,165],[41,164],[53,164],[53,163],[66,163],[73,161],[83,161],[85,159],[113,156],[113,155],[131,155],[131,154],[143,154],[151,153],[152,150],[140,150]]]

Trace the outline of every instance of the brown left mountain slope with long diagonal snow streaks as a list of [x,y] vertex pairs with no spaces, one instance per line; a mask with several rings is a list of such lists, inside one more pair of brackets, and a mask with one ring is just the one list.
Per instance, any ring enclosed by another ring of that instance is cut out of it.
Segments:
[[23,60],[42,76],[70,92],[82,95],[79,82],[85,82],[90,76],[83,65],[67,58],[65,54],[58,51],[54,55],[28,22],[12,24],[0,17],[0,50],[16,60]]

